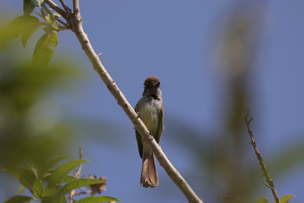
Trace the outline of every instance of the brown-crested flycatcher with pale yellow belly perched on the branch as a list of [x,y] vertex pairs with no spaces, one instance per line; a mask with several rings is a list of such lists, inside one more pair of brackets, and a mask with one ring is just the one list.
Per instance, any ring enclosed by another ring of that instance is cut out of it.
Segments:
[[[164,108],[161,98],[161,83],[158,77],[149,76],[143,82],[143,97],[137,102],[135,112],[141,117],[148,130],[151,131],[155,141],[159,144],[164,128]],[[135,130],[139,155],[143,159],[140,184],[143,187],[155,187],[158,185],[158,176],[153,152],[149,149],[141,135]]]

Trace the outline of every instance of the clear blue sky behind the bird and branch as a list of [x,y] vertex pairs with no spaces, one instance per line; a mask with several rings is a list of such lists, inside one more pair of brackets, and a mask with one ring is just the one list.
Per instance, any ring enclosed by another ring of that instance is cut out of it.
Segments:
[[[18,15],[9,14],[10,10],[22,12],[21,2],[0,2],[1,18],[7,15],[5,18],[14,19]],[[210,139],[206,132],[223,132],[223,126],[219,123],[226,119],[221,117],[225,110],[223,103],[230,96],[227,89],[229,79],[226,72],[218,67],[216,59],[215,47],[220,40],[221,30],[230,16],[258,5],[260,9],[253,11],[258,11],[254,14],[261,19],[261,27],[257,32],[259,39],[254,62],[245,84],[252,99],[252,106],[248,106],[254,117],[251,128],[256,140],[259,140],[258,147],[267,164],[275,153],[284,153],[296,143],[303,143],[304,2],[258,2],[95,0],[90,3],[81,1],[80,11],[85,33],[95,52],[103,52],[100,57],[102,64],[129,103],[135,107],[147,76],[158,76],[164,100],[165,127],[168,119],[203,131],[201,141],[204,146],[208,145],[204,142]],[[67,0],[65,4],[71,6]],[[58,36],[59,44],[55,48],[54,58],[67,54],[68,58],[79,61],[89,77],[88,80],[79,81],[76,86],[78,93],[54,93],[58,108],[70,112],[69,117],[101,121],[101,127],[107,126],[107,129],[101,128],[100,133],[111,136],[105,141],[96,140],[98,135],[95,131],[78,129],[89,138],[79,138],[75,151],[70,153],[78,154],[77,146],[83,146],[85,158],[91,160],[84,164],[83,173],[106,176],[109,184],[103,194],[117,197],[123,202],[137,202],[141,198],[146,198],[147,203],[186,202],[161,166],[157,166],[159,186],[153,189],[140,186],[141,159],[132,123],[93,70],[74,33],[60,31]],[[28,44],[31,42],[35,44],[35,39],[30,39]],[[29,46],[24,54],[31,51]],[[174,135],[168,135],[170,129],[167,128],[160,143],[162,149],[182,175],[191,174],[192,170],[196,171],[191,166],[197,160],[191,158],[191,153],[184,146],[172,142]],[[244,134],[247,136],[246,131]],[[253,151],[248,157],[257,161],[252,155]],[[291,202],[295,203],[301,202],[304,182],[303,154],[299,156],[302,157],[300,164],[284,175],[272,177],[279,196],[294,194],[296,198]],[[256,167],[259,170],[257,164]],[[275,170],[275,167],[271,170]],[[216,196],[208,190],[208,185],[197,183],[190,177],[190,186],[193,185],[193,190],[204,198],[204,202],[222,201],[220,197],[225,194]],[[262,183],[260,187],[256,200],[267,196],[271,202],[271,191]],[[168,188],[171,192],[165,194]],[[13,194],[14,191],[10,195]],[[0,200],[4,200],[6,195],[0,196]]]

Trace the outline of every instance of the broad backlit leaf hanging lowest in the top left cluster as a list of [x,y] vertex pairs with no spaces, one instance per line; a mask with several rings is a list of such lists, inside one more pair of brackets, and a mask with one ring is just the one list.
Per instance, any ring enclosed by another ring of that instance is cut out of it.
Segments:
[[32,65],[33,66],[47,66],[50,62],[50,59],[53,56],[54,49],[51,47],[56,47],[58,44],[58,35],[57,33],[45,33],[38,40],[36,47],[34,49]]

